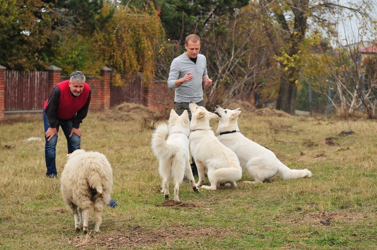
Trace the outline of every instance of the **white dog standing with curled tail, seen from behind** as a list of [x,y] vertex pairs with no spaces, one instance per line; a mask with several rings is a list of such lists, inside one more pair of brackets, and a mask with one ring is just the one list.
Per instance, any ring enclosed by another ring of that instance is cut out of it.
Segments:
[[[169,136],[165,141],[167,134]],[[199,191],[190,166],[189,135],[189,113],[184,110],[179,116],[174,109],[170,111],[169,126],[165,123],[159,124],[152,135],[152,150],[159,160],[158,171],[162,178],[161,193],[164,193],[165,199],[169,198],[169,179],[172,179],[174,201],[179,201],[179,185],[184,175],[189,179],[193,190]]]

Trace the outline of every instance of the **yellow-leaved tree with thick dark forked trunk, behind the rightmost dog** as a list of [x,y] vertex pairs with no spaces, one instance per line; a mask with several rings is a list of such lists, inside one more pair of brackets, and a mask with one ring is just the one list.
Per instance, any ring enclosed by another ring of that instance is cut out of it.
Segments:
[[[276,59],[279,61],[281,77],[276,108],[294,114],[299,72],[303,65],[301,45],[306,40],[309,24],[318,25],[322,32],[333,33],[336,10],[347,8],[360,15],[366,15],[362,6],[344,7],[335,1],[310,0],[258,0],[252,4],[260,9],[261,19],[270,40]],[[370,3],[371,4],[371,3]],[[310,21],[310,22],[309,22]],[[315,31],[313,27],[311,31]]]

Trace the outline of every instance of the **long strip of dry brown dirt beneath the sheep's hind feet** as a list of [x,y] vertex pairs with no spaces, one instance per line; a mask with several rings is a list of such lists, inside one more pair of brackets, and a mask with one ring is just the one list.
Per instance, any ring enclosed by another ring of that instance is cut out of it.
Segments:
[[142,249],[150,248],[153,245],[161,244],[169,240],[184,238],[206,238],[211,236],[221,237],[226,232],[213,228],[198,228],[192,226],[178,225],[175,227],[163,227],[158,230],[147,231],[143,227],[132,227],[128,232],[109,232],[94,234],[93,231],[87,235],[75,235],[70,238],[78,249]]

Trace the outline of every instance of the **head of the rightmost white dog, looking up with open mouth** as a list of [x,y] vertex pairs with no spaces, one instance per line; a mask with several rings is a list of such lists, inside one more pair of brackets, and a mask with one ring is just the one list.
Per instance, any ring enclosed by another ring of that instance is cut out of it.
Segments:
[[219,105],[216,105],[214,113],[219,116],[219,126],[217,128],[217,133],[223,133],[228,131],[237,131],[238,129],[238,115],[241,113],[239,110],[240,108],[236,109],[224,109],[220,107]]

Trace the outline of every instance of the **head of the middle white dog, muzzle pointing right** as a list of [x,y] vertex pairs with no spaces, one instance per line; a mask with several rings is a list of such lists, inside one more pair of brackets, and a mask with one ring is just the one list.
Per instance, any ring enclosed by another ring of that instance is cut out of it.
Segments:
[[195,102],[191,102],[191,122],[190,128],[192,130],[210,130],[211,119],[217,119],[217,114],[209,112],[205,107],[198,106]]

